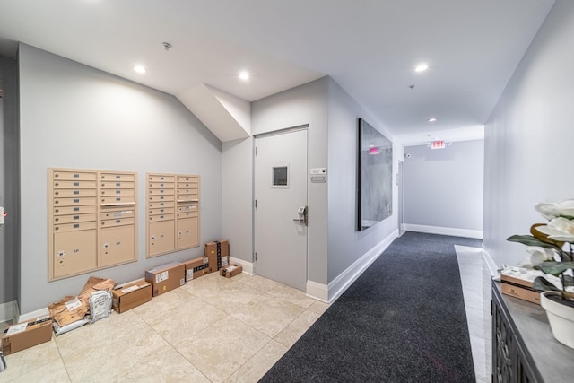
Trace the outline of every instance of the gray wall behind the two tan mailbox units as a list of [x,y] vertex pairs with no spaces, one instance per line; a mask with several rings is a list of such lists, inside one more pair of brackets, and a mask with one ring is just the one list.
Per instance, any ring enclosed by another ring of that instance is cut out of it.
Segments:
[[203,254],[200,247],[145,258],[145,172],[199,174],[200,244],[220,238],[221,142],[175,97],[25,44],[19,62],[22,313],[80,292],[89,276],[48,283],[48,167],[138,173],[138,261],[93,275],[126,282]]

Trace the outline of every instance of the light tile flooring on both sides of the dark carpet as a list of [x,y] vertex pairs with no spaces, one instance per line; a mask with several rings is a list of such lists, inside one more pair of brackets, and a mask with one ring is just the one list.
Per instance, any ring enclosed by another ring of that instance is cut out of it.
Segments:
[[[480,249],[457,247],[457,257],[476,381],[490,382],[490,273]],[[7,355],[0,381],[257,382],[327,307],[257,275],[207,274]]]

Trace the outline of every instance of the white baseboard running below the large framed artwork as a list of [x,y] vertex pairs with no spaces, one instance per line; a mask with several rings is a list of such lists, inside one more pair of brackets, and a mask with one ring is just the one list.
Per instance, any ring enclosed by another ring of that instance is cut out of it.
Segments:
[[[343,273],[331,281],[327,286],[328,303],[333,303],[363,274],[365,270],[375,262],[378,256],[398,237],[398,229],[393,231],[387,238],[378,242],[373,248],[347,267]],[[309,283],[308,283],[309,284]]]

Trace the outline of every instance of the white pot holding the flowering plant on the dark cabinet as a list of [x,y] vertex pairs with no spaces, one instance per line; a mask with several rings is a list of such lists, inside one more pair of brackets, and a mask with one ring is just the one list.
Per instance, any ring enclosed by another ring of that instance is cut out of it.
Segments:
[[546,310],[552,335],[561,344],[574,348],[574,307],[551,297],[561,299],[561,292],[540,293],[540,305]]

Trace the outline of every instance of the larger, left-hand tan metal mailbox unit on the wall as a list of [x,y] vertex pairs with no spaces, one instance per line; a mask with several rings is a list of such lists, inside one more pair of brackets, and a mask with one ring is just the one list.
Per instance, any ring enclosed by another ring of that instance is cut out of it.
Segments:
[[136,260],[137,174],[48,168],[48,279]]

